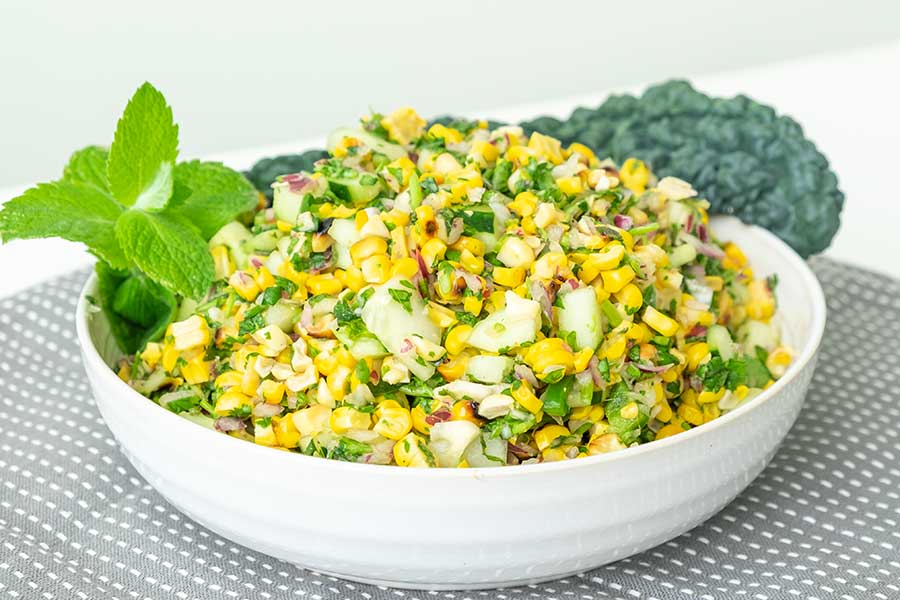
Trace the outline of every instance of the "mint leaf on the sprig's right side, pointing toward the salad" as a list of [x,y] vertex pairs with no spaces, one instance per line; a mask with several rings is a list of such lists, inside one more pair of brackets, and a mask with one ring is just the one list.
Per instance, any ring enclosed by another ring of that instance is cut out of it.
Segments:
[[206,239],[259,201],[253,184],[222,163],[183,162],[175,165],[173,175],[176,193],[169,210],[177,210]]

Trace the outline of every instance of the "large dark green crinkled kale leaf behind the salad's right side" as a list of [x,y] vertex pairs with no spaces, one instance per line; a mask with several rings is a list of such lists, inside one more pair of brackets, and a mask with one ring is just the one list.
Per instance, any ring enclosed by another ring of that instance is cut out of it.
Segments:
[[840,226],[844,194],[825,156],[796,121],[746,96],[711,98],[669,81],[564,121],[522,125],[617,162],[641,158],[660,177],[691,182],[711,212],[765,227],[804,257],[827,248]]

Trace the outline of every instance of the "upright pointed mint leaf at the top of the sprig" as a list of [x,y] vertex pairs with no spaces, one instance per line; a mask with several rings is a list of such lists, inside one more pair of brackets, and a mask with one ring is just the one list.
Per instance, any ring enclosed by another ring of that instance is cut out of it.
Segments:
[[107,177],[113,196],[126,206],[161,209],[172,196],[178,157],[178,126],[163,95],[149,83],[134,93],[109,149]]

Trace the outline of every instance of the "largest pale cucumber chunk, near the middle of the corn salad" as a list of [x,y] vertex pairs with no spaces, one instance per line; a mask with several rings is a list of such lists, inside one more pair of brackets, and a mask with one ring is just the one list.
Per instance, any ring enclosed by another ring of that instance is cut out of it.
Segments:
[[[423,339],[435,343],[441,343],[441,330],[428,317],[425,312],[425,303],[419,293],[406,287],[401,281],[408,280],[394,277],[386,283],[373,288],[375,293],[366,301],[360,317],[369,331],[384,344],[384,347],[412,372],[422,380],[434,375],[434,366],[428,362],[416,360],[418,357],[403,352],[407,345],[406,340],[412,335],[419,335]],[[412,284],[410,284],[412,285]],[[391,295],[399,292],[402,295],[409,294],[409,307],[400,304]]]

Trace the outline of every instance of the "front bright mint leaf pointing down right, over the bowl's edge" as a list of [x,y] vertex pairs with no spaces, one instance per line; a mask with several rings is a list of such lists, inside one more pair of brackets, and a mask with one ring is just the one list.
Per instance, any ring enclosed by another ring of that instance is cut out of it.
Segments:
[[212,256],[185,220],[129,210],[116,222],[116,238],[125,256],[157,283],[194,299],[209,291],[215,275]]

